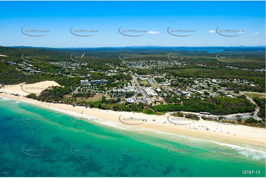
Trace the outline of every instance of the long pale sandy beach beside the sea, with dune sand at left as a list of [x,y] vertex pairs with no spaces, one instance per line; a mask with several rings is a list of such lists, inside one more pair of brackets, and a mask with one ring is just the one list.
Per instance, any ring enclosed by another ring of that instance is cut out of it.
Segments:
[[[31,84],[27,84],[31,85]],[[51,85],[58,85],[53,81],[44,81],[38,82],[34,84],[34,87],[48,87]],[[58,85],[59,86],[59,85]],[[43,107],[49,107],[50,109],[54,109],[57,111],[61,111],[64,113],[69,113],[69,111],[75,112],[77,116],[86,117],[86,115],[92,115],[97,118],[101,118],[103,120],[111,121],[111,126],[126,126],[127,128],[136,128],[136,130],[140,130],[141,128],[146,128],[146,130],[157,130],[160,132],[166,132],[176,135],[182,135],[197,139],[204,139],[209,141],[216,141],[220,143],[232,144],[235,145],[243,144],[250,145],[256,147],[265,148],[265,129],[264,128],[255,128],[250,126],[242,126],[242,125],[225,125],[220,124],[214,121],[205,121],[205,120],[172,120],[176,117],[169,116],[170,113],[166,113],[165,115],[146,115],[143,113],[133,113],[133,112],[118,112],[112,110],[102,110],[96,108],[85,108],[81,106],[73,107],[72,105],[66,104],[57,104],[57,103],[45,103],[40,102],[33,99],[25,98],[27,92],[21,90],[21,84],[18,85],[6,85],[0,89],[0,96],[8,99],[12,99],[15,101],[24,101],[31,102],[35,104],[40,104]],[[40,90],[36,90],[36,92],[40,92]],[[19,94],[21,96],[14,96],[12,94]],[[120,117],[121,116],[121,117]],[[169,120],[178,124],[187,124],[187,125],[175,125],[170,123]],[[120,120],[119,120],[120,117]],[[124,120],[125,118],[134,118],[138,119],[135,121]],[[144,120],[144,121],[143,121]],[[145,121],[147,120],[147,121]],[[155,121],[152,121],[155,120]],[[124,123],[122,123],[122,122]],[[127,123],[127,124],[126,124]],[[190,123],[190,124],[189,124]],[[138,125],[130,125],[130,124],[138,124]],[[207,128],[209,130],[207,130]],[[145,129],[144,129],[145,130]],[[228,133],[229,132],[229,133]]]

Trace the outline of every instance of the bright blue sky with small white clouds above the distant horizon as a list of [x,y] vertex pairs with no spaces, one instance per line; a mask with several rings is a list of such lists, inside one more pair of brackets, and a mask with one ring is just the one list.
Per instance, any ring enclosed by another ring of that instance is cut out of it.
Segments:
[[[0,7],[0,46],[263,46],[266,39],[265,1],[0,1]],[[71,27],[93,36],[74,35]],[[169,27],[190,36],[171,35]]]

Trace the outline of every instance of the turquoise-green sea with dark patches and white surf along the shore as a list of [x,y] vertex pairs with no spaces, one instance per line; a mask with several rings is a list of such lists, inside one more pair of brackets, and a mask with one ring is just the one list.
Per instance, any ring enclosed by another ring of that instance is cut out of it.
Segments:
[[1,177],[265,177],[263,148],[237,145],[249,149],[223,156],[215,149],[228,145],[93,121],[79,125],[68,114],[3,98],[0,118]]

